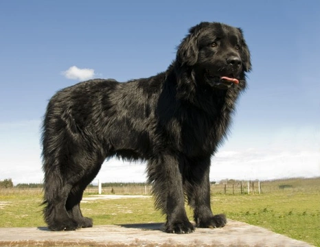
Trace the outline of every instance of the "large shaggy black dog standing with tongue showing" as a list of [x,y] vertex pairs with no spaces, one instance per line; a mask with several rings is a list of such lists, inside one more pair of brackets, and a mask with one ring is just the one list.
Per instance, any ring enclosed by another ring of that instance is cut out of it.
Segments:
[[250,71],[242,31],[200,23],[168,70],[119,83],[89,80],[58,91],[43,123],[44,216],[53,231],[91,227],[80,201],[106,157],[148,161],[146,172],[167,233],[222,227],[210,207],[209,167],[228,132]]

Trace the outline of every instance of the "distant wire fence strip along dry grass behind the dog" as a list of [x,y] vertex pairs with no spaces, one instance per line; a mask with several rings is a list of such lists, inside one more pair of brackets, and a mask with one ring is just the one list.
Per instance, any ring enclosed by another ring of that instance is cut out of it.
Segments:
[[[95,181],[96,182],[96,181]],[[15,186],[10,188],[0,187],[0,195],[8,194],[43,194],[43,185],[37,187]],[[222,180],[220,183],[211,184],[211,193],[220,195],[258,195],[259,193],[286,193],[299,192],[311,193],[320,191],[320,178],[290,178],[286,180],[246,181],[246,180]],[[116,194],[116,195],[150,195],[152,186],[145,183],[102,183],[89,185],[84,193],[87,194]]]

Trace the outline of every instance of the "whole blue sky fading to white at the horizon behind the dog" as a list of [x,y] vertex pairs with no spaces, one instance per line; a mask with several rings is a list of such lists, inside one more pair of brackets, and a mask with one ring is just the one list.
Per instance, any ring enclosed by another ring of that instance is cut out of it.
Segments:
[[[201,21],[242,27],[253,64],[211,180],[320,176],[319,16],[320,1],[0,1],[0,180],[41,182],[58,89],[165,71]],[[111,160],[97,178],[144,181],[144,168]]]

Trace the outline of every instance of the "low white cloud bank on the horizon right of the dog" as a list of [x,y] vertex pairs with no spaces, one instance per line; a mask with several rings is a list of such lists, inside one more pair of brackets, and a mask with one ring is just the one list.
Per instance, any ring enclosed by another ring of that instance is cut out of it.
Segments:
[[238,152],[218,152],[212,158],[210,173],[211,180],[268,180],[314,176],[320,176],[319,151],[284,148],[249,148]]

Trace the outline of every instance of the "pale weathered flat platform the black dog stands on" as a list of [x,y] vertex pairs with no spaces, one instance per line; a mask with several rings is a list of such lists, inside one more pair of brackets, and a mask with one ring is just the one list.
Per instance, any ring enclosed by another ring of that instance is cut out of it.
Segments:
[[161,228],[160,223],[93,226],[62,232],[48,231],[46,227],[0,228],[0,246],[311,246],[264,228],[233,220],[228,220],[224,228],[196,228],[194,233],[187,235],[163,233]]

